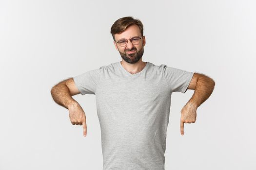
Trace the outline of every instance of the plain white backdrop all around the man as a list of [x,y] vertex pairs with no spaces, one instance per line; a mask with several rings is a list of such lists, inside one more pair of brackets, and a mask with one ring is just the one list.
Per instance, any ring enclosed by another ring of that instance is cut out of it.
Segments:
[[256,170],[256,1],[1,0],[0,170],[102,170],[95,95],[76,95],[87,136],[52,86],[121,61],[110,34],[120,17],[144,24],[143,61],[216,82],[180,135],[193,95],[173,93],[166,170]]

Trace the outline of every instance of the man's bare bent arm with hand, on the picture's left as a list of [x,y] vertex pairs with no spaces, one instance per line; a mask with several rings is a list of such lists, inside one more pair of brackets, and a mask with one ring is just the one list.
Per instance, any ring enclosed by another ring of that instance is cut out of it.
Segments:
[[87,126],[85,113],[80,104],[72,98],[72,96],[79,93],[80,92],[75,85],[73,78],[69,78],[62,82],[59,82],[51,89],[51,95],[53,97],[53,100],[57,104],[69,110],[70,121],[73,125],[82,125],[83,135],[86,136]]

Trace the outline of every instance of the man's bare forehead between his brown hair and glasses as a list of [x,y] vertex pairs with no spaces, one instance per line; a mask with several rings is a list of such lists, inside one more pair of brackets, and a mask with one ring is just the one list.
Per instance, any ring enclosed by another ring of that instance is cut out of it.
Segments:
[[121,38],[130,39],[134,36],[141,36],[138,25],[131,25],[124,32],[115,34],[116,40]]

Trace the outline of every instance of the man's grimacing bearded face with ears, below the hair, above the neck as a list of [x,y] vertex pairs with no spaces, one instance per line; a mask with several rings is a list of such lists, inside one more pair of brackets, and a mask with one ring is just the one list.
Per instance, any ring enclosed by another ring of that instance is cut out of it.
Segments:
[[117,42],[123,38],[128,40],[133,37],[141,37],[138,25],[131,25],[121,34],[115,34],[116,41],[114,41],[115,47],[119,51],[123,60],[131,64],[137,63],[142,57],[144,52],[143,47],[146,44],[145,36],[139,40],[138,45],[134,45],[131,41],[128,41],[126,46],[121,47]]

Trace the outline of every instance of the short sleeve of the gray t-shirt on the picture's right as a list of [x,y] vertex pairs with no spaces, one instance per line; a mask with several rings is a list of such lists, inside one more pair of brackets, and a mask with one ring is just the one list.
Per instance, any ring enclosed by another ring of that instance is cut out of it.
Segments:
[[163,72],[171,92],[185,93],[192,80],[194,72],[163,65]]

